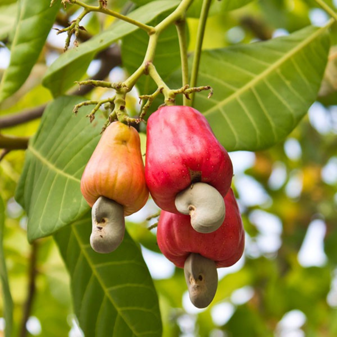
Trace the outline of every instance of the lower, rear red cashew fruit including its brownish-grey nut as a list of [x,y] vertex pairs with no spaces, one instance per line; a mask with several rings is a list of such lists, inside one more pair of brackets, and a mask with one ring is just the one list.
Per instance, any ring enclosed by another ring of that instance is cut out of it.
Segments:
[[244,250],[244,229],[232,189],[224,197],[226,216],[214,232],[202,234],[190,226],[189,216],[161,211],[157,241],[161,252],[184,268],[192,303],[204,308],[217,287],[216,268],[235,264]]

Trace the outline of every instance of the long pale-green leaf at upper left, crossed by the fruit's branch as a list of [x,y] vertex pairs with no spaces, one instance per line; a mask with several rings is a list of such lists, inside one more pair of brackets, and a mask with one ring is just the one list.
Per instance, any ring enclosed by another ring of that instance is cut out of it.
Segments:
[[[178,4],[179,1],[172,0],[153,1],[134,10],[129,14],[129,17],[142,23],[148,23],[162,12],[175,8]],[[98,52],[108,48],[113,42],[136,29],[138,29],[136,26],[119,21],[87,42],[81,43],[78,48],[68,50],[50,66],[44,76],[43,85],[50,89],[54,96],[62,94],[73,85],[74,81],[81,79]]]

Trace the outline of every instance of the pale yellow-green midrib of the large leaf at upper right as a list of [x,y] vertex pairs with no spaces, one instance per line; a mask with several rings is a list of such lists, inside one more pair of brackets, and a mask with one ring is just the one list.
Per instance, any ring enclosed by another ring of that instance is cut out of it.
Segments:
[[329,28],[332,24],[334,23],[334,20],[331,19],[329,21],[329,23],[324,26],[321,27],[320,29],[318,29],[314,34],[310,35],[308,38],[304,39],[301,43],[299,43],[293,50],[291,50],[290,52],[286,53],[285,55],[283,55],[278,61],[276,61],[274,64],[272,64],[269,68],[267,68],[266,70],[264,70],[261,74],[256,75],[250,82],[248,82],[247,84],[245,84],[243,87],[241,87],[240,89],[238,89],[237,91],[235,91],[232,95],[228,96],[227,98],[225,98],[224,100],[218,102],[216,105],[212,106],[211,109],[205,111],[203,114],[205,116],[209,115],[210,113],[212,113],[214,110],[218,110],[219,108],[221,108],[223,105],[227,104],[229,101],[233,100],[233,99],[237,99],[238,96],[240,96],[243,92],[245,92],[246,90],[254,87],[255,84],[257,84],[259,81],[264,80],[264,78],[267,77],[267,75],[269,75],[270,73],[272,73],[274,70],[276,70],[280,65],[282,65],[282,63],[286,62],[288,59],[290,59],[291,57],[293,57],[295,54],[297,54],[299,51],[301,51],[301,49],[309,44],[312,40],[314,40],[317,36],[319,36],[321,34],[322,31],[326,30],[327,28]]

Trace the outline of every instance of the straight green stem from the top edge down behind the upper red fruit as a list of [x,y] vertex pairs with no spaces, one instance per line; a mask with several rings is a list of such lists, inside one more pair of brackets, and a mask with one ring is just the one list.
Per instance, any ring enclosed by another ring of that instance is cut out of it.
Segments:
[[[203,6],[201,8],[201,13],[200,13],[198,31],[197,31],[197,35],[196,35],[196,45],[195,45],[194,56],[193,56],[190,87],[195,87],[197,79],[198,79],[198,71],[199,71],[199,64],[200,64],[200,57],[201,57],[201,48],[202,48],[202,45],[203,45],[206,21],[207,21],[208,11],[209,11],[210,5],[211,5],[211,0],[204,0],[203,1]],[[189,101],[190,106],[193,105],[193,98],[194,98],[194,94],[191,94],[191,100]]]

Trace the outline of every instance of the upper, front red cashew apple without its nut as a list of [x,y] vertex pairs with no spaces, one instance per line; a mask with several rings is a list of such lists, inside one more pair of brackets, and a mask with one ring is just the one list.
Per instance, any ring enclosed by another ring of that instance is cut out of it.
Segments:
[[147,123],[145,179],[154,202],[177,213],[174,200],[192,182],[201,181],[225,196],[233,166],[208,121],[188,106],[163,106]]

